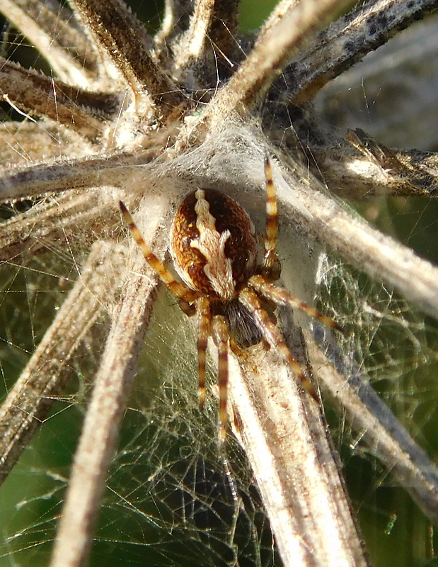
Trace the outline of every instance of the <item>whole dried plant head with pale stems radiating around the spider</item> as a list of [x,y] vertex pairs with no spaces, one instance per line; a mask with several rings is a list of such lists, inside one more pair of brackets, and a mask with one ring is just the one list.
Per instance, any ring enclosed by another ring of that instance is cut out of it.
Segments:
[[[1,201],[37,202],[0,227],[1,262],[39,254],[73,227],[81,228],[85,240],[97,234],[114,242],[120,237],[119,198],[138,208],[148,242],[163,253],[175,205],[193,186],[229,193],[260,229],[268,152],[274,158],[285,232],[322,242],[436,317],[437,268],[342,208],[318,181],[353,198],[370,193],[433,196],[436,156],[389,150],[363,130],[342,138],[321,125],[310,103],[325,83],[438,2],[369,0],[322,29],[352,4],[283,0],[258,38],[250,40],[238,35],[236,0],[166,0],[154,38],[121,0],[71,0],[75,18],[38,0],[4,2],[5,16],[28,35],[59,80],[1,63],[5,101],[32,120],[40,118],[38,123],[8,123],[1,137],[9,164],[0,172]],[[31,13],[41,16],[33,19]],[[285,134],[284,116],[291,120],[292,135]],[[113,244],[106,254],[107,269],[116,249]],[[112,305],[113,323],[74,459],[52,567],[86,563],[154,303],[155,279],[140,274],[149,271],[136,249],[129,248],[129,257],[127,280],[120,264],[111,264],[115,277],[106,281],[103,303]],[[64,381],[66,361],[100,308],[87,303],[103,291],[96,277],[86,274],[87,267],[65,303],[67,311],[59,312],[24,371],[22,380],[32,384],[34,399],[47,391],[40,361],[51,353],[50,362],[59,365]],[[64,337],[59,321],[68,323],[74,316],[69,302],[78,309],[79,327]],[[338,374],[330,370],[330,357],[308,338],[322,388],[335,392],[353,421],[360,416],[371,446],[382,439],[382,430],[389,435],[379,445],[379,458],[396,470],[400,483],[412,485],[415,478],[413,496],[437,522],[438,476],[427,456],[395,418],[389,420],[387,408],[357,393],[357,383],[333,386]],[[57,354],[58,342],[59,352],[69,354]],[[305,352],[301,358],[306,360]],[[57,392],[61,384],[50,383],[50,388]],[[253,467],[284,565],[366,566],[338,457],[313,401],[294,386],[289,370],[272,353],[235,359],[230,390],[240,424],[236,434]],[[34,426],[50,409],[47,403],[41,408],[23,402],[21,386],[19,402],[16,395],[11,391],[2,414],[2,431],[13,429],[8,430],[1,478],[35,429],[27,425]],[[26,427],[10,419],[10,408],[18,403],[26,408]]]

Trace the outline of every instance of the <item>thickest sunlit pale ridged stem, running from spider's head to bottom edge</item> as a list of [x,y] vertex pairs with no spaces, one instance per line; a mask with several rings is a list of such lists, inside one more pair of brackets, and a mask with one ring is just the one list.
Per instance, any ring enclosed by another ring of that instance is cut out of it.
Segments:
[[321,410],[271,354],[231,368],[243,445],[284,566],[367,566]]

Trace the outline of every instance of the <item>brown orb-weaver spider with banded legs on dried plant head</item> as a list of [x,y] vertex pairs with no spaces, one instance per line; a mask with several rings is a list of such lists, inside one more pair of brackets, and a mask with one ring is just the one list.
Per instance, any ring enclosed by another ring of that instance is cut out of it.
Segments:
[[144,259],[178,298],[180,308],[197,315],[197,355],[200,406],[205,402],[207,339],[218,350],[219,442],[224,443],[227,424],[229,348],[242,349],[261,340],[277,349],[289,363],[306,391],[318,401],[301,366],[282,339],[263,301],[291,305],[337,330],[329,317],[299,301],[273,283],[279,279],[277,256],[277,198],[270,159],[265,159],[266,234],[263,264],[257,262],[255,228],[248,214],[231,197],[215,189],[197,189],[185,197],[173,219],[171,257],[183,283],[176,281],[160,262],[134,223],[126,206],[120,210]]

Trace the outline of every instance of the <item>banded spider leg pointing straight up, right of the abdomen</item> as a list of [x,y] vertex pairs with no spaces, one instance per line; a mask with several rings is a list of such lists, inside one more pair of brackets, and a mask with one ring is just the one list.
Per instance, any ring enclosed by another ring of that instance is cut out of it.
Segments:
[[265,159],[266,179],[266,237],[265,259],[262,274],[265,278],[275,281],[279,279],[281,265],[277,256],[277,196],[272,179],[272,168],[269,157]]

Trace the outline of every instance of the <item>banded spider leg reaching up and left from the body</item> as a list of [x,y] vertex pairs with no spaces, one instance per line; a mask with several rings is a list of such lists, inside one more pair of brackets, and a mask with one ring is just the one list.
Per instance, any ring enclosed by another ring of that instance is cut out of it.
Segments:
[[140,232],[137,225],[134,223],[134,219],[132,218],[129,210],[127,210],[125,203],[119,201],[120,210],[122,211],[123,218],[125,219],[125,223],[127,223],[129,230],[131,231],[132,237],[134,238],[137,245],[143,252],[144,259],[146,262],[151,266],[151,268],[159,274],[161,280],[166,283],[168,289],[180,299],[180,307],[188,313],[188,315],[192,315],[192,310],[190,310],[190,303],[195,301],[197,298],[197,293],[194,291],[182,286],[175,278],[172,276],[171,272],[168,271],[166,266],[163,262],[156,257],[154,252],[151,251],[146,242],[144,242],[144,238],[142,237],[142,233]]

